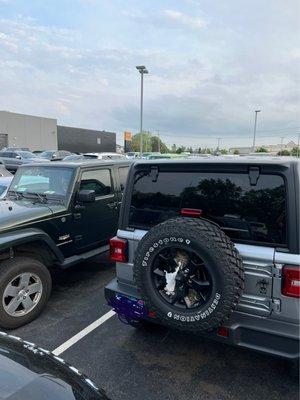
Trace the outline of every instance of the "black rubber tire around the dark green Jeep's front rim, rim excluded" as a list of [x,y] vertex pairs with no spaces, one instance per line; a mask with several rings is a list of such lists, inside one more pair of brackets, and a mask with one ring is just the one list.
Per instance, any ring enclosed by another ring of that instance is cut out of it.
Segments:
[[[51,293],[52,282],[48,269],[41,262],[27,257],[15,258],[8,262],[3,262],[2,265],[0,264],[0,269],[3,269],[0,280],[0,326],[13,329],[31,322],[41,313]],[[40,278],[43,285],[42,294],[38,304],[28,314],[14,317],[7,314],[3,308],[3,294],[12,279],[26,272],[33,273]]]

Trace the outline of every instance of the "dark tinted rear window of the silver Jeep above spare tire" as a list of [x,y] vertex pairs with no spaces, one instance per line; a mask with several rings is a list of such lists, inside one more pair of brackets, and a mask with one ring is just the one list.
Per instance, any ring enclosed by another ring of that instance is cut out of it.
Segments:
[[150,228],[180,215],[182,208],[202,211],[233,240],[286,245],[284,179],[260,175],[255,186],[248,174],[160,172],[157,180],[136,175],[129,226]]

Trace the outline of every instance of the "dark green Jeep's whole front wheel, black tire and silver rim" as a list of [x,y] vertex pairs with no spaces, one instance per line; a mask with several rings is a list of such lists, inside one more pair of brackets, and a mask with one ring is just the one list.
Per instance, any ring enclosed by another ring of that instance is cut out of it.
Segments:
[[0,327],[18,328],[33,321],[45,307],[52,281],[47,267],[29,257],[0,264]]

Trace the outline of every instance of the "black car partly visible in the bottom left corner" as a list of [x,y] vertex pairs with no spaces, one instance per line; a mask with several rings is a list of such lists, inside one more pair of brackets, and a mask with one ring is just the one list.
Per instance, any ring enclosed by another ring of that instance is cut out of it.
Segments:
[[10,400],[108,400],[77,368],[19,337],[0,332],[0,396]]

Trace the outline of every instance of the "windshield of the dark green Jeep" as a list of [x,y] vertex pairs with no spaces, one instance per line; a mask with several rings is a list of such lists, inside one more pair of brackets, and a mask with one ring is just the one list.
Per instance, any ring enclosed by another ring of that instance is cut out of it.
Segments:
[[70,190],[73,170],[56,167],[23,167],[17,170],[9,191],[65,197]]

